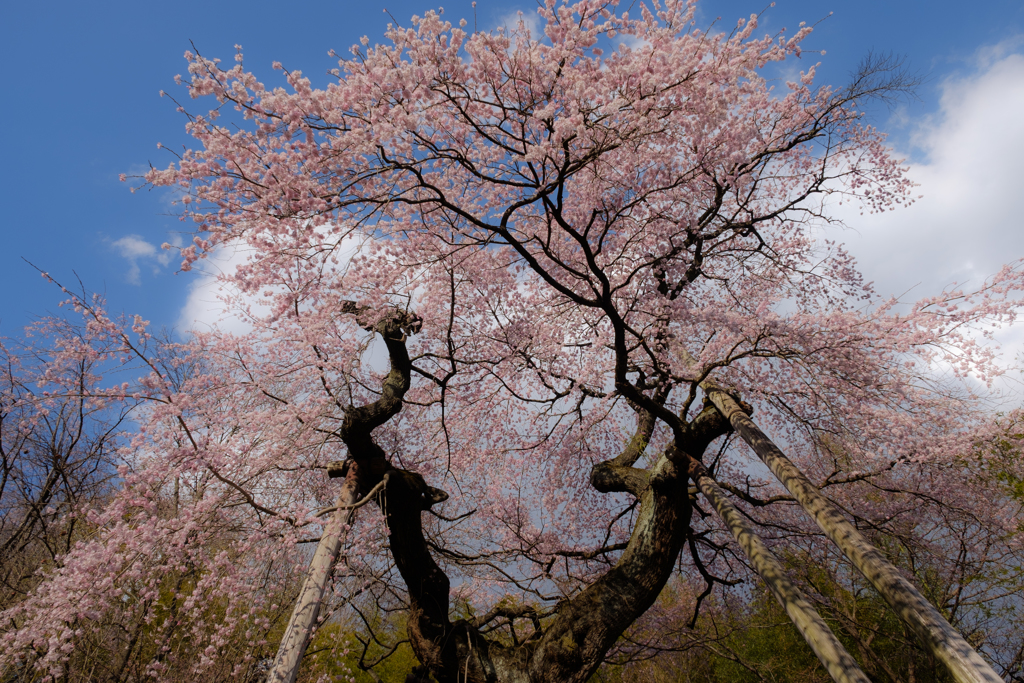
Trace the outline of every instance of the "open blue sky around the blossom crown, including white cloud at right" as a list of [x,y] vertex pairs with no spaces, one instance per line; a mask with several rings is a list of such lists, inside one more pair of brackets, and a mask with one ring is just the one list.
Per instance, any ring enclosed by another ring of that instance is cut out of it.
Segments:
[[[701,0],[698,7],[706,26],[721,16],[727,28],[766,4]],[[154,248],[187,224],[170,215],[164,191],[132,195],[118,174],[150,162],[165,166],[169,155],[157,142],[186,141],[183,118],[158,93],[184,95],[173,78],[185,69],[189,41],[225,60],[236,43],[243,45],[246,66],[267,83],[280,79],[273,60],[326,83],[323,74],[336,66],[328,50],[347,54],[362,35],[379,40],[389,20],[385,6],[402,22],[436,7],[408,0],[7,0],[0,14],[0,335],[16,335],[60,299],[23,257],[66,285],[77,275],[105,293],[115,311],[139,313],[158,327],[186,326],[197,297],[212,297],[203,289],[209,283],[176,273],[176,262]],[[479,0],[477,26],[489,29],[535,8]],[[819,82],[842,85],[869,50],[906,55],[926,79],[920,101],[872,115],[916,163],[927,199],[896,217],[850,215],[854,229],[838,237],[886,293],[916,286],[926,294],[1024,256],[1024,222],[1013,201],[1024,197],[1016,161],[1024,156],[1024,3],[779,0],[762,28],[792,31],[829,12],[805,43],[826,50],[804,57],[822,61]],[[449,3],[445,16],[466,16],[472,26],[470,2]]]

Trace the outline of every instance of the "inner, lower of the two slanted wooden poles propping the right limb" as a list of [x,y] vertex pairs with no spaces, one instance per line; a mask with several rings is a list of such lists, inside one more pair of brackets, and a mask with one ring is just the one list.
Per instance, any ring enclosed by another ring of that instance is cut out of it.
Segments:
[[726,499],[725,494],[709,476],[703,466],[695,460],[690,461],[690,477],[729,527],[732,537],[750,558],[754,569],[785,609],[785,613],[790,615],[800,635],[824,665],[833,680],[836,683],[870,683],[870,679],[839,642],[803,592],[786,577],[778,558],[743,520],[742,514]]

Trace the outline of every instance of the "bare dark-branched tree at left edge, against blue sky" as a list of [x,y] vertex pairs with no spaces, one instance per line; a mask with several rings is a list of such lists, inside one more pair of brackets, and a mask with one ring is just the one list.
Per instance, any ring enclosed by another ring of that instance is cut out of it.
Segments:
[[38,583],[38,570],[82,538],[80,506],[101,504],[113,493],[132,407],[122,396],[92,394],[111,353],[108,345],[57,318],[27,332],[23,340],[0,343],[0,604],[5,607],[24,599]]

